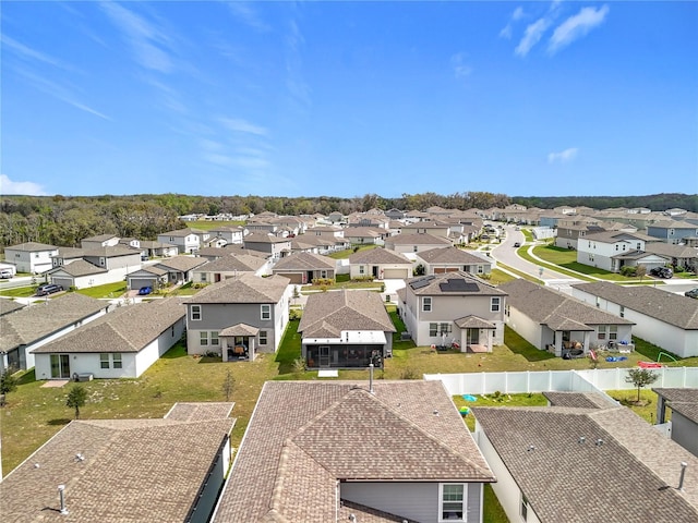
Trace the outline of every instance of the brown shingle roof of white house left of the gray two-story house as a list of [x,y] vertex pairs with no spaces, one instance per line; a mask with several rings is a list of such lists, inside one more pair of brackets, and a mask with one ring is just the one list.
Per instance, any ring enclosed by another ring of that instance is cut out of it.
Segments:
[[178,297],[122,306],[32,352],[139,352],[184,314],[184,305]]

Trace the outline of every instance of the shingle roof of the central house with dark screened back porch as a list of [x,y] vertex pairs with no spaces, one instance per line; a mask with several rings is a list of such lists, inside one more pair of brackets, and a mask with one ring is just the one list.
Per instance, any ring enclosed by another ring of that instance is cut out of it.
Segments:
[[342,330],[396,331],[376,292],[341,290],[309,295],[298,331],[304,338],[321,338],[321,333]]

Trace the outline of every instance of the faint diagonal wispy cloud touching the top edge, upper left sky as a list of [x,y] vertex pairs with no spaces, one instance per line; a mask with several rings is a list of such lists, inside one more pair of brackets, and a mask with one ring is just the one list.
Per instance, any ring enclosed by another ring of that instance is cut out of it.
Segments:
[[173,70],[172,59],[165,49],[170,38],[163,29],[118,3],[103,2],[101,8],[121,31],[142,66],[160,73]]

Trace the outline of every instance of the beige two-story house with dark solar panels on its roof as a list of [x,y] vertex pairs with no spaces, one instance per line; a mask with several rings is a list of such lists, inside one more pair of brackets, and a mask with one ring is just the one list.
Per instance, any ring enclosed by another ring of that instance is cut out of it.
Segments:
[[506,292],[468,272],[422,276],[398,291],[399,314],[418,345],[491,352],[504,343]]

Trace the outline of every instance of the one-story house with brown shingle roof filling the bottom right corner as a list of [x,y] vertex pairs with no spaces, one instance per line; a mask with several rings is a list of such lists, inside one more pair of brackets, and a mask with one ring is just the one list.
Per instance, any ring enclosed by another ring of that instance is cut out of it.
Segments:
[[472,409],[509,521],[698,521],[698,458],[629,409],[579,405]]

